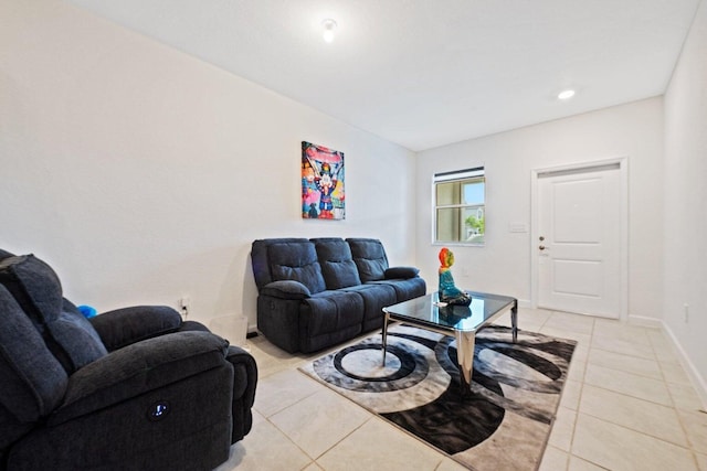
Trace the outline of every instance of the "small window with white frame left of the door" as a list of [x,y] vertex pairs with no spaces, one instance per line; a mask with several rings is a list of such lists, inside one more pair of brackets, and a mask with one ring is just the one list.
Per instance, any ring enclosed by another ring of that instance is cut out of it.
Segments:
[[434,242],[484,244],[484,168],[434,174]]

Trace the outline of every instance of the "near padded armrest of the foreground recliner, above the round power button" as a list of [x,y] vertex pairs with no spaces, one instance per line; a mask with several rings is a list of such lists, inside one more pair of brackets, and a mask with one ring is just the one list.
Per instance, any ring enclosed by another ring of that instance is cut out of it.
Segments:
[[178,332],[128,345],[74,373],[57,425],[226,364],[229,343],[208,332]]

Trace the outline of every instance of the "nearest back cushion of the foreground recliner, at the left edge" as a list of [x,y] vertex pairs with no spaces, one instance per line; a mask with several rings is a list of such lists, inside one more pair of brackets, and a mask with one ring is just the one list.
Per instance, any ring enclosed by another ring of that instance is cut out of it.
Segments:
[[[3,286],[0,286],[0,404],[15,417],[20,428],[21,424],[35,422],[59,406],[68,377]],[[4,417],[3,422],[12,420]],[[6,431],[12,435],[12,430]]]

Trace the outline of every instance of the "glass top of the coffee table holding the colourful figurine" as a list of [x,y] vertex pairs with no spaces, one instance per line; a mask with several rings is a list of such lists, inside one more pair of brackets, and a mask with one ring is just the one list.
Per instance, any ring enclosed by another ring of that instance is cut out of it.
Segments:
[[471,332],[485,325],[492,318],[513,308],[515,298],[466,291],[472,297],[472,303],[464,306],[440,306],[437,292],[421,296],[409,301],[384,308],[389,317],[404,321],[409,319],[416,323],[429,324],[437,329]]

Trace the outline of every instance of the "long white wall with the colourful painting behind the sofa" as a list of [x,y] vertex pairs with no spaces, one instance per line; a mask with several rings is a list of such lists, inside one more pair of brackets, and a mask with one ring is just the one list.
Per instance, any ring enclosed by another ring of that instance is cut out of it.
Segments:
[[[412,152],[59,1],[0,18],[0,247],[74,302],[188,295],[253,327],[255,238],[379,237],[414,264]],[[345,152],[346,221],[300,218],[302,140]]]

